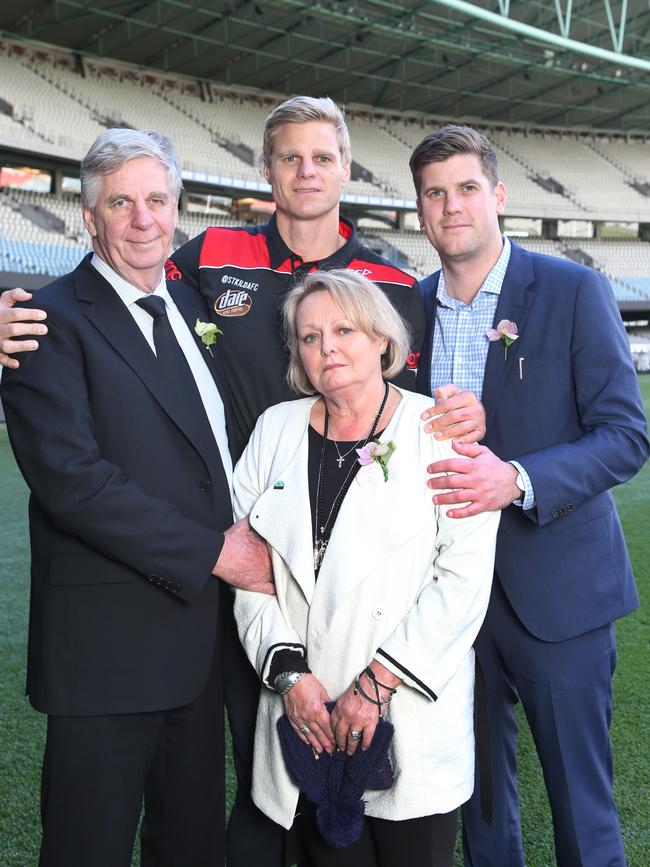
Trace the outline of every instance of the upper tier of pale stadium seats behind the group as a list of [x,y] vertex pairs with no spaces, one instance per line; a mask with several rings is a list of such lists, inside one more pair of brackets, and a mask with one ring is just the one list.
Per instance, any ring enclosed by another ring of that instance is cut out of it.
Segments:
[[[86,60],[82,74],[71,56],[48,58],[27,48],[17,54],[11,43],[0,43],[0,97],[13,108],[13,116],[0,114],[0,144],[79,159],[107,125],[159,128],[178,142],[187,171],[216,176],[225,186],[267,189],[260,148],[271,95],[208,88],[105,61]],[[347,196],[412,205],[408,157],[438,121],[358,109],[348,119],[355,161],[371,177],[351,181]],[[488,132],[510,214],[650,221],[650,197],[643,194],[650,183],[649,144],[551,131]]]

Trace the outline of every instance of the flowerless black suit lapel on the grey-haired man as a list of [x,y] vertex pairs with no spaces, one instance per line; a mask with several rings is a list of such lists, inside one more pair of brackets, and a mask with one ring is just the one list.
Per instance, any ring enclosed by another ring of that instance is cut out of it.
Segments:
[[79,300],[88,303],[87,318],[142,380],[206,465],[213,467],[218,449],[210,428],[205,430],[201,414],[188,413],[167,387],[155,354],[113,287],[90,264],[90,256],[75,271],[75,287]]

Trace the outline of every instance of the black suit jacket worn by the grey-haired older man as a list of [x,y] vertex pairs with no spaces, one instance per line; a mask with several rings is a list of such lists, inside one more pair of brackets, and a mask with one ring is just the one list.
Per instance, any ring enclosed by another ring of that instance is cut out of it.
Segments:
[[[192,328],[208,319],[196,293],[169,289]],[[48,339],[2,379],[31,489],[30,699],[57,715],[181,706],[220,640],[210,573],[232,512],[216,443],[90,257],[38,306]]]

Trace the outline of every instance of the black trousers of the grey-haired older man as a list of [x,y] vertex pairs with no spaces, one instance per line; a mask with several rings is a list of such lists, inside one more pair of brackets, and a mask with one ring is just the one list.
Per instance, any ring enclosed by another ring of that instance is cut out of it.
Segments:
[[39,867],[222,867],[221,641],[203,693],[154,713],[48,718]]

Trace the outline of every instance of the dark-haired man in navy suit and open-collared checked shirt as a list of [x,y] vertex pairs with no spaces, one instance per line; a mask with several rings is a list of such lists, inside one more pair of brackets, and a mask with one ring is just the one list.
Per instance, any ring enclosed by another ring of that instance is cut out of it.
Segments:
[[501,235],[505,189],[484,136],[444,127],[418,145],[411,171],[442,262],[422,284],[419,387],[473,389],[487,422],[482,445],[455,445],[472,460],[432,464],[429,472],[450,475],[428,484],[454,489],[434,495],[454,517],[503,510],[476,645],[494,813],[491,824],[481,817],[477,780],[464,810],[465,864],[524,863],[519,700],[544,771],[558,865],[621,867],[609,742],[613,621],[638,597],[610,488],[638,471],[649,448],[629,343],[601,274]]

